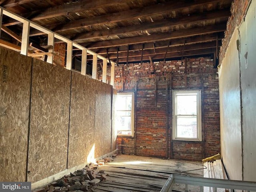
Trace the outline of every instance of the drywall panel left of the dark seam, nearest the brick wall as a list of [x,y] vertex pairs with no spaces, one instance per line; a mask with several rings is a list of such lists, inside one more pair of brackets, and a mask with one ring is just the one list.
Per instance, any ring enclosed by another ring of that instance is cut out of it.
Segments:
[[230,179],[242,180],[239,59],[235,30],[219,73],[221,155]]

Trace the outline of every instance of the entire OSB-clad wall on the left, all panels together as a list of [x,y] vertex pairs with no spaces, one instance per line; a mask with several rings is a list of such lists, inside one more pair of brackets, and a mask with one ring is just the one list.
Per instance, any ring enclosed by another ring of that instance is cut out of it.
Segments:
[[111,152],[112,86],[4,48],[0,74],[0,180],[54,180]]

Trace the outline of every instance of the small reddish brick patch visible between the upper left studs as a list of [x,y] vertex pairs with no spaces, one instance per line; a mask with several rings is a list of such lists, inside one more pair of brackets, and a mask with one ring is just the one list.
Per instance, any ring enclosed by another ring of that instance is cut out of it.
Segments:
[[55,65],[65,66],[65,55],[66,55],[66,43],[55,43],[54,44],[54,55],[53,63]]

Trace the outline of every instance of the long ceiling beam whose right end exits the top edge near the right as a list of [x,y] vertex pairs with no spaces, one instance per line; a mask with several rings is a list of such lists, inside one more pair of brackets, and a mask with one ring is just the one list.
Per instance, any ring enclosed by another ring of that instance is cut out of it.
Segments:
[[[183,1],[172,1],[163,4],[154,4],[143,8],[137,8],[133,10],[127,10],[107,15],[96,16],[92,18],[84,18],[68,22],[66,24],[60,24],[59,27],[54,30],[55,32],[64,30],[73,30],[81,27],[92,26],[94,24],[107,24],[120,22],[122,20],[138,19],[140,17],[152,16],[156,14],[163,14],[165,12],[172,12],[175,10],[181,10],[189,8],[190,6],[200,6],[210,3],[221,2],[221,0],[197,0],[196,2],[184,3]],[[47,27],[47,26],[46,26]]]

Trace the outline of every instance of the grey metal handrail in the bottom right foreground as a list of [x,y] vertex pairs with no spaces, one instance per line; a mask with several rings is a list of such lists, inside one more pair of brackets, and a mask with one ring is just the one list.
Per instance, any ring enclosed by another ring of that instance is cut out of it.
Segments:
[[194,185],[194,186],[206,186],[206,187],[224,188],[224,189],[232,189],[232,190],[256,191],[256,182],[202,178],[202,177],[171,174],[168,180],[166,181],[166,183],[164,184],[161,192],[171,192],[172,186],[174,183],[186,184],[186,188],[187,188],[187,185]]

